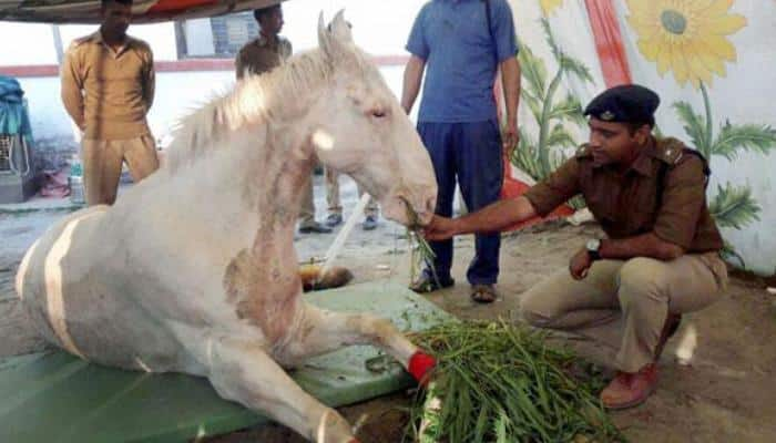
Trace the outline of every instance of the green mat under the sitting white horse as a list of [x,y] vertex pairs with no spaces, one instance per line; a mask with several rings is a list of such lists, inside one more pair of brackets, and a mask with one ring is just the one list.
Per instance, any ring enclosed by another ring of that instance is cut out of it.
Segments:
[[[336,311],[390,318],[401,330],[422,330],[449,318],[396,284],[355,285],[305,297]],[[367,370],[366,360],[376,356],[375,348],[350,347],[313,359],[292,375],[331,406],[415,384],[398,364],[379,373]],[[266,422],[222,400],[207,380],[195,377],[110,369],[59,351],[0,364],[0,442],[185,442]]]

